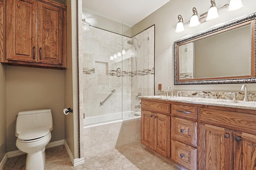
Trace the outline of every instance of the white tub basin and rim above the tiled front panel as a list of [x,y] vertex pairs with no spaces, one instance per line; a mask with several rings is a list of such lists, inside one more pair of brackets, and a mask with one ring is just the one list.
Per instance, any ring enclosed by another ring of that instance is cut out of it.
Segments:
[[[122,116],[123,115],[123,116]],[[114,123],[122,119],[134,119],[140,117],[140,112],[124,111],[118,113],[110,113],[104,115],[89,116],[84,118],[84,126],[99,126],[108,123]]]

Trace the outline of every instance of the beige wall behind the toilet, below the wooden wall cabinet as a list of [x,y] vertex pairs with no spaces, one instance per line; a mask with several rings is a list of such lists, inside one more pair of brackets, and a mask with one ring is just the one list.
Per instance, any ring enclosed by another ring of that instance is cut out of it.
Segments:
[[6,66],[7,152],[15,143],[15,115],[19,111],[51,109],[53,131],[50,142],[64,139],[64,70]]

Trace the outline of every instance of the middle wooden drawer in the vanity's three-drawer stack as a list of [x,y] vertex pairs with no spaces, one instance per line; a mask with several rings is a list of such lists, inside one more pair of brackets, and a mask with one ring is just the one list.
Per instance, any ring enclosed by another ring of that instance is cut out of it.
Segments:
[[172,117],[172,139],[197,146],[197,122]]

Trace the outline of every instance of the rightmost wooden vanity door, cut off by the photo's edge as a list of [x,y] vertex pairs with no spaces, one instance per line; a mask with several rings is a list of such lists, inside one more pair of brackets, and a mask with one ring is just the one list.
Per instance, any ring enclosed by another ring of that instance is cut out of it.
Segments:
[[256,135],[234,132],[234,170],[256,170]]

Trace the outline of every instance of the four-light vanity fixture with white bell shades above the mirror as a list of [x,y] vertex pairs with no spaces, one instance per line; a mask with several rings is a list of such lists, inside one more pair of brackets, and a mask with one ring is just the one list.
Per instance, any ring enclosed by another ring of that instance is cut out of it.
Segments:
[[218,14],[219,10],[222,10],[224,8],[228,8],[227,12],[235,12],[240,10],[244,5],[242,4],[242,0],[230,0],[229,4],[225,4],[221,8],[216,8],[215,0],[211,0],[212,6],[209,8],[208,12],[205,12],[204,14],[201,14],[198,17],[197,10],[194,7],[193,8],[193,15],[190,18],[190,21],[183,23],[183,18],[181,15],[178,15],[178,23],[176,25],[175,33],[181,33],[185,31],[184,25],[189,24],[188,27],[196,27],[200,23],[204,23],[205,21],[213,21],[218,19],[220,16]]

